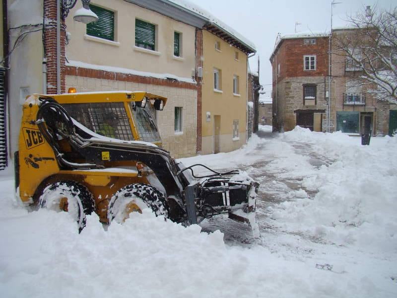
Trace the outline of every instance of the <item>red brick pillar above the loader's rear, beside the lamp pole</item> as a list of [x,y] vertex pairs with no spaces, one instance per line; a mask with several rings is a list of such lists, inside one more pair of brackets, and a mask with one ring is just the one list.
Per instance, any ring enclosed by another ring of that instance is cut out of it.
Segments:
[[[57,93],[57,0],[44,0],[44,15],[50,24],[44,30],[44,49],[47,58],[47,93]],[[64,29],[63,29],[64,28]],[[65,92],[65,22],[61,21],[61,92]]]

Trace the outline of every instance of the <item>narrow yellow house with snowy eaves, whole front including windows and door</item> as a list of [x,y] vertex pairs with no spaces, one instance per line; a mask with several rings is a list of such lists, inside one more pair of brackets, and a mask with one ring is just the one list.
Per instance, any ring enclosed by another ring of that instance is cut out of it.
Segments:
[[202,33],[201,153],[228,152],[246,143],[248,55],[255,47],[214,24]]

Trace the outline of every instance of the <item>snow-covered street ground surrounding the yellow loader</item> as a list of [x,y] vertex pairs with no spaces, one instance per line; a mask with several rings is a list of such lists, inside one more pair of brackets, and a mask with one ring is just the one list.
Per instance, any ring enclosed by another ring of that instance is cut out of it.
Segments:
[[260,183],[257,221],[184,227],[133,214],[81,234],[66,213],[28,212],[2,173],[2,297],[397,297],[397,138],[260,127],[242,149],[184,158]]

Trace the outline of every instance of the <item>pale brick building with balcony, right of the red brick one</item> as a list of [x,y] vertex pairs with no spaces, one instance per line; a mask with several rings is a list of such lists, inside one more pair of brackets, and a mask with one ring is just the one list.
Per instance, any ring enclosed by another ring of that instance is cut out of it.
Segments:
[[[355,40],[357,29],[334,29],[332,40]],[[359,48],[353,49],[353,55],[361,56]],[[393,126],[397,128],[397,106],[387,101],[378,101],[369,92],[376,89],[374,84],[363,84],[358,78],[362,73],[359,66],[343,55],[338,43],[332,42],[331,54],[332,89],[334,101],[331,105],[335,115],[336,131],[349,135],[392,134]],[[391,131],[389,131],[391,129]]]

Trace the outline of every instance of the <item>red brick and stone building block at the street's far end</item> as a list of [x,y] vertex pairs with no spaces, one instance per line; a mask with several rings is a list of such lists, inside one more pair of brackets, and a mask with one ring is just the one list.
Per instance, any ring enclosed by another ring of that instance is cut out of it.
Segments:
[[[373,98],[369,91],[376,86],[360,81],[360,67],[336,42],[354,41],[356,30],[334,29],[331,39],[329,34],[278,39],[270,57],[273,131],[290,131],[299,125],[318,132],[382,136],[397,129],[397,106]],[[357,50],[354,55],[359,57]]]

